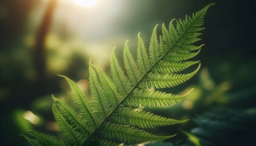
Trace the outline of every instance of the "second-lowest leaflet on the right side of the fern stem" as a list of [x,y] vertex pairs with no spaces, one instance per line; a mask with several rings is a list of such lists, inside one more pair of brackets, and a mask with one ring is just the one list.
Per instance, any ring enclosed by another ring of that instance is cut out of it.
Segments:
[[169,119],[150,112],[141,111],[140,109],[132,109],[121,105],[118,110],[112,114],[110,121],[122,125],[137,126],[139,128],[155,128],[183,123],[188,120]]

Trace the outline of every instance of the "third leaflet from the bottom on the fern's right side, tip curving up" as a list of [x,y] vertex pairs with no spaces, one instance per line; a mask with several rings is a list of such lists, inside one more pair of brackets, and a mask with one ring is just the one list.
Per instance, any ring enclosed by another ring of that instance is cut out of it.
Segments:
[[155,106],[169,106],[175,103],[180,102],[185,96],[187,96],[193,89],[191,89],[187,94],[183,96],[168,94],[166,92],[160,91],[148,91],[148,90],[139,90],[135,89],[132,96],[124,102],[127,106],[146,106],[146,107],[155,107]]

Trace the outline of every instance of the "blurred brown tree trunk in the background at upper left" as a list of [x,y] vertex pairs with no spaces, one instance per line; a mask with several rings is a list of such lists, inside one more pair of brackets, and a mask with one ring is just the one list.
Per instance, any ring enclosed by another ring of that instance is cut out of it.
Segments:
[[51,26],[52,15],[54,13],[56,5],[57,0],[49,0],[49,4],[47,5],[46,11],[41,20],[41,24],[38,27],[37,36],[35,38],[34,66],[35,71],[37,72],[37,81],[40,84],[40,86],[44,85],[44,83],[47,80],[45,41],[47,33]]

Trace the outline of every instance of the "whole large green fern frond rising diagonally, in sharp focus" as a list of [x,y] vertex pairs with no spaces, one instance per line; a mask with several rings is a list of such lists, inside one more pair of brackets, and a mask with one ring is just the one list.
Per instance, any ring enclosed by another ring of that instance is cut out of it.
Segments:
[[[137,60],[132,57],[126,41],[123,52],[125,71],[119,65],[114,48],[110,57],[112,78],[90,61],[89,82],[92,97],[90,102],[73,80],[59,75],[68,82],[74,103],[80,110],[77,114],[67,103],[53,98],[55,103],[52,111],[55,120],[68,142],[31,131],[23,136],[34,145],[138,144],[162,141],[175,136],[176,134],[157,136],[143,129],[173,125],[187,120],[170,119],[133,107],[169,106],[180,102],[189,94],[188,92],[180,96],[150,91],[148,88],[177,86],[199,71],[201,66],[199,61],[187,60],[199,54],[201,47],[204,46],[203,44],[194,46],[193,43],[200,40],[199,31],[204,29],[201,26],[210,5],[191,17],[186,16],[184,21],[173,19],[168,29],[163,24],[159,39],[157,39],[157,26],[155,26],[148,52],[139,33]],[[190,74],[179,73],[197,63],[199,63],[198,67]]]

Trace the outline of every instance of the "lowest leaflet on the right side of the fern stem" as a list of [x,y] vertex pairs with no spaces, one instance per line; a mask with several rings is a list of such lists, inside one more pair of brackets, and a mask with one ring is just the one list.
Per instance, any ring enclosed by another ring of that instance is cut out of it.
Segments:
[[163,141],[170,137],[176,136],[156,136],[151,133],[147,133],[144,130],[138,130],[137,128],[130,127],[129,125],[119,125],[115,123],[106,123],[99,131],[101,136],[125,142],[126,144],[138,144],[141,142]]

